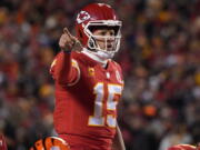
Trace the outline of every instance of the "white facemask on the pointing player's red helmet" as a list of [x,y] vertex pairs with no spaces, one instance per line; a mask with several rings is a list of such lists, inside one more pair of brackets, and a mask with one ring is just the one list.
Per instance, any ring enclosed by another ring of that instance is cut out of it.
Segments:
[[[84,33],[88,36],[88,48],[96,52],[102,51],[107,53],[116,53],[120,48],[121,40],[121,21],[102,20],[89,21],[84,28]],[[94,36],[93,29],[113,29],[113,36]],[[104,47],[98,44],[98,41],[104,42]]]

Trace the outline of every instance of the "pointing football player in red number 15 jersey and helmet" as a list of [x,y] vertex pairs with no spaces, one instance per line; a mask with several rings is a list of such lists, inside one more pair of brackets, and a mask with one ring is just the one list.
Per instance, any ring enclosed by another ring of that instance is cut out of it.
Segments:
[[51,64],[56,82],[54,128],[71,150],[124,150],[117,123],[123,79],[111,60],[118,52],[121,21],[104,3],[84,7],[77,16],[77,38],[68,29]]

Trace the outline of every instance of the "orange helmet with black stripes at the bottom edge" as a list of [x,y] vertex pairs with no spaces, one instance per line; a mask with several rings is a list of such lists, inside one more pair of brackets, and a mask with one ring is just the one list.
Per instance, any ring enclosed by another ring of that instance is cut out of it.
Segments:
[[29,150],[70,150],[70,147],[61,138],[48,137],[38,140]]

